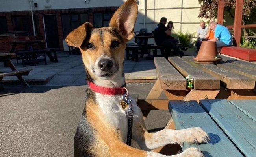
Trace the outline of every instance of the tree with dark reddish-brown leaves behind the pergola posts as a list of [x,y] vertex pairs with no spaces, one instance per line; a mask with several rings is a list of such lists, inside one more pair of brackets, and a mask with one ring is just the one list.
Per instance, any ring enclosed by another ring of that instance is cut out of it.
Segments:
[[[199,18],[217,18],[219,0],[198,0],[201,5]],[[224,0],[224,11],[234,19],[236,0]],[[243,22],[253,24],[256,20],[256,0],[243,0]]]

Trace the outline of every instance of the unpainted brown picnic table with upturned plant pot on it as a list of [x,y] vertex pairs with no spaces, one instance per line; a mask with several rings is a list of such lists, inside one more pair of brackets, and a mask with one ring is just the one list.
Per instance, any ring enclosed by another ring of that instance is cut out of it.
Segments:
[[[256,64],[221,57],[223,60],[218,64],[197,64],[193,56],[169,57],[168,60],[155,57],[158,79],[147,98],[138,100],[144,119],[150,110],[168,110],[169,100],[256,100]],[[190,79],[185,79],[189,75]],[[160,99],[162,92],[167,99]],[[166,128],[175,128],[173,119]]]

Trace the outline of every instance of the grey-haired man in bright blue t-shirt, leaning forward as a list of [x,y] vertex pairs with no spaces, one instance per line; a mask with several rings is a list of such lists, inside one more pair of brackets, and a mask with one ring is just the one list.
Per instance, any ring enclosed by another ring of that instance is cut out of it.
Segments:
[[214,31],[214,37],[210,41],[216,42],[217,48],[232,45],[232,36],[227,27],[212,21],[210,22],[210,28]]

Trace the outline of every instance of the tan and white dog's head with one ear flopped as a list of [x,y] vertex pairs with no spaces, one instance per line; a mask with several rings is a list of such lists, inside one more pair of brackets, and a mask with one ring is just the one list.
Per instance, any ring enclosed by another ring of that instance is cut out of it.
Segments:
[[69,33],[66,42],[79,47],[88,80],[101,86],[124,84],[124,51],[126,42],[134,37],[137,13],[136,0],[127,0],[117,9],[109,27],[94,29],[84,23]]

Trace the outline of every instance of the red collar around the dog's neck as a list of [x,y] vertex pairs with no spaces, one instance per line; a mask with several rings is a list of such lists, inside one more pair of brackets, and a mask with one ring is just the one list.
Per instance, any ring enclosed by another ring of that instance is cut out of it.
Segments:
[[108,88],[108,87],[102,87],[102,86],[97,86],[96,84],[94,84],[93,82],[88,81],[88,85],[89,87],[97,92],[97,93],[101,93],[101,94],[108,94],[108,95],[123,95],[126,93],[126,89],[125,88]]

